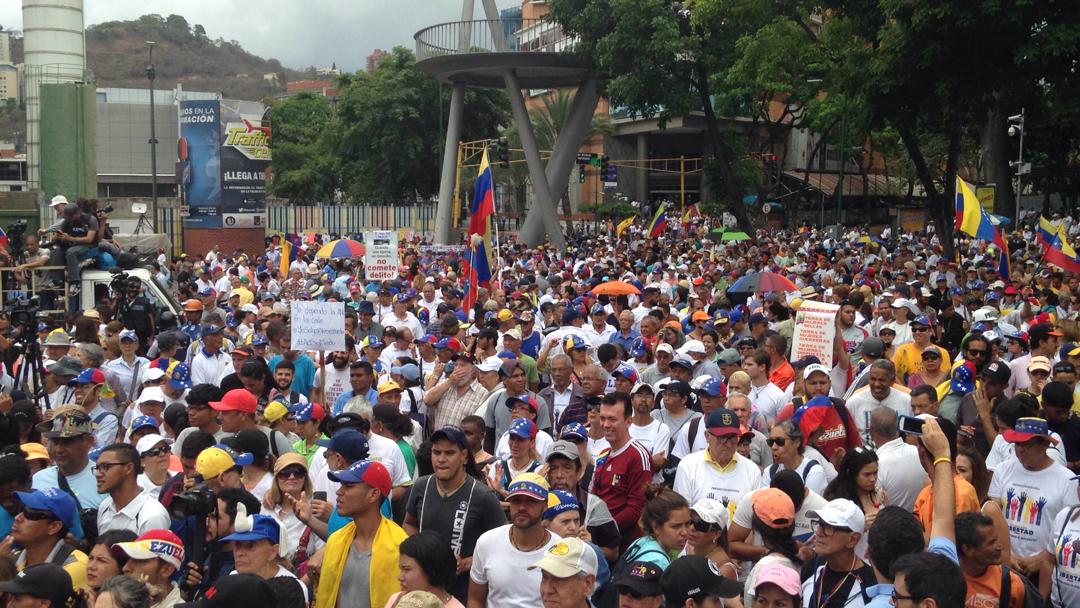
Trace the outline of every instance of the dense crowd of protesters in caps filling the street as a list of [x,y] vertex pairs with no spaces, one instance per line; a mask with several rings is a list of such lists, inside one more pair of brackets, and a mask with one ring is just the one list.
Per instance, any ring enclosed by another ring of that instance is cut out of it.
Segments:
[[[274,237],[159,256],[179,319],[133,312],[137,284],[19,340],[0,314],[0,592],[1080,606],[1080,278],[1023,232],[1004,276],[932,225],[713,228],[511,237],[482,287],[461,247],[402,243],[369,281],[315,255],[330,235],[284,262]],[[296,300],[345,302],[343,350],[293,348]],[[835,339],[794,356],[807,302]]]

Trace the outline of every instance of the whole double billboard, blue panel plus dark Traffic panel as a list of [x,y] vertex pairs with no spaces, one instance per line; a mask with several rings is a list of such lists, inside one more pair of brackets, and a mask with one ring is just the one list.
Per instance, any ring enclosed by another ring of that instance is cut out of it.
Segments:
[[186,228],[266,226],[270,126],[266,106],[230,99],[180,103],[177,163]]

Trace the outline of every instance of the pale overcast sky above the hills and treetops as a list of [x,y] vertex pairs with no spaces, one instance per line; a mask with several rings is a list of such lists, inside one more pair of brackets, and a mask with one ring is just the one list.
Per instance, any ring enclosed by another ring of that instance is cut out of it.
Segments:
[[[475,2],[477,18],[482,3]],[[517,0],[496,0],[502,9]],[[460,0],[84,0],[93,25],[139,15],[179,14],[213,38],[237,40],[247,51],[287,67],[362,69],[375,49],[415,48],[413,35],[461,18]],[[22,2],[0,0],[0,25],[22,29]]]

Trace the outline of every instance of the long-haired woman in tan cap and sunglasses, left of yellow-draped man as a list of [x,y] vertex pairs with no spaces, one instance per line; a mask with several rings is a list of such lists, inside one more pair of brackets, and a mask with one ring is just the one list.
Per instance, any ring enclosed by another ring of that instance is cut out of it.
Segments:
[[296,516],[301,500],[311,500],[308,459],[296,452],[281,455],[273,465],[273,482],[262,499],[262,514],[276,517],[288,532],[285,553],[298,571],[324,543]]

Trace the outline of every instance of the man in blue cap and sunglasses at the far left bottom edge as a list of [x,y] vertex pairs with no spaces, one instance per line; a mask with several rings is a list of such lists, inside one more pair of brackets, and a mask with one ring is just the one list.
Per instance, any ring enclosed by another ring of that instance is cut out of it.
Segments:
[[15,496],[23,503],[11,528],[11,539],[23,548],[15,553],[15,567],[22,571],[35,564],[63,566],[76,590],[85,587],[86,554],[64,540],[68,532],[82,538],[79,505],[71,495],[46,488]]

